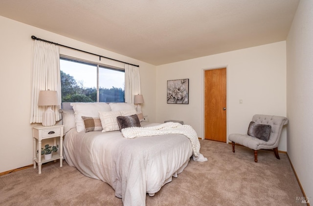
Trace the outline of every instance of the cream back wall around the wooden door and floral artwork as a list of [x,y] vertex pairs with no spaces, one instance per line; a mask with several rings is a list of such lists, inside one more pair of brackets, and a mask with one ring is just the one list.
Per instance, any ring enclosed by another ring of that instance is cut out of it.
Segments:
[[[286,41],[156,67],[156,121],[182,120],[203,137],[203,70],[227,67],[227,137],[254,114],[286,117]],[[167,80],[189,78],[189,104],[167,104]],[[239,104],[239,100],[243,104]],[[278,149],[286,151],[286,127]]]

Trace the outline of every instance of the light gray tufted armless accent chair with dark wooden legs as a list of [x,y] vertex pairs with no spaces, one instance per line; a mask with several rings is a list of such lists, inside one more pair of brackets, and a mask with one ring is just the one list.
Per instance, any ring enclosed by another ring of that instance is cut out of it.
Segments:
[[[271,132],[268,142],[260,140],[256,137],[249,136],[247,134],[230,134],[228,140],[231,141],[233,152],[235,152],[235,143],[246,146],[254,150],[254,162],[258,162],[258,150],[267,149],[275,153],[277,159],[278,155],[278,144],[282,133],[283,126],[288,124],[288,119],[281,116],[272,115],[261,115],[256,114],[253,116],[252,121],[256,124],[268,124],[271,126]],[[248,124],[247,124],[248,125]]]

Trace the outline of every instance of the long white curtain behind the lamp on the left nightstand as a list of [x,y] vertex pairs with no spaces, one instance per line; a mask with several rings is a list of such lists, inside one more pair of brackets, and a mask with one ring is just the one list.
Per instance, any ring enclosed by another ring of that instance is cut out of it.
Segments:
[[57,91],[59,105],[51,106],[55,120],[61,120],[61,77],[59,46],[44,41],[34,41],[32,59],[32,94],[30,123],[42,123],[45,106],[38,106],[40,90]]

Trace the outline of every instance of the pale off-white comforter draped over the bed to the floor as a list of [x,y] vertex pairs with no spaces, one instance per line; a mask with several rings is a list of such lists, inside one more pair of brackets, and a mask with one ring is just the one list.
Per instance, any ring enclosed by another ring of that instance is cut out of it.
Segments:
[[126,139],[121,132],[77,132],[64,139],[68,165],[112,186],[125,206],[144,206],[181,172],[192,156],[192,145],[181,134]]

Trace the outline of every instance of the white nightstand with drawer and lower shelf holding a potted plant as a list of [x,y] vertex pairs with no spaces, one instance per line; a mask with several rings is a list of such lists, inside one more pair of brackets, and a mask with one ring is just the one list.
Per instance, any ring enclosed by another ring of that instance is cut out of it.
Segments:
[[[52,158],[50,160],[45,160],[44,155],[41,155],[41,148],[42,148],[42,140],[54,138],[54,144],[57,145],[57,137],[60,138],[60,146],[58,151],[52,154]],[[36,144],[37,142],[37,144]],[[33,126],[33,146],[34,146],[34,153],[33,153],[33,162],[34,168],[36,168],[36,163],[38,164],[38,174],[41,174],[41,166],[44,163],[60,160],[60,167],[62,167],[63,161],[63,125],[54,125],[54,126],[43,126],[43,125],[36,125]],[[36,148],[36,146],[38,146]],[[38,156],[37,154],[38,149]]]

